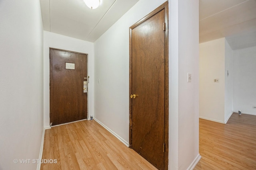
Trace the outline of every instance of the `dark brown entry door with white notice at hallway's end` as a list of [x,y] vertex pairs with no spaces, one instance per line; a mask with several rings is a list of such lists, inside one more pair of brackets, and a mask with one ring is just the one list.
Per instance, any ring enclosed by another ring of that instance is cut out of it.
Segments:
[[50,49],[50,122],[87,119],[87,55]]

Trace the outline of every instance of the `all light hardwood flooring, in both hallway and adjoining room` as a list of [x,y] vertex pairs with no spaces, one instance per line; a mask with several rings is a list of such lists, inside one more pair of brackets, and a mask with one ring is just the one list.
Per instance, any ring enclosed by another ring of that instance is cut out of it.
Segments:
[[[199,152],[194,170],[256,170],[256,116],[233,113],[227,124],[199,120]],[[41,170],[156,170],[96,121],[47,129]]]

